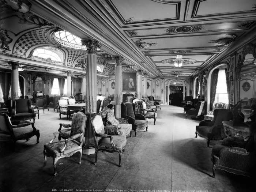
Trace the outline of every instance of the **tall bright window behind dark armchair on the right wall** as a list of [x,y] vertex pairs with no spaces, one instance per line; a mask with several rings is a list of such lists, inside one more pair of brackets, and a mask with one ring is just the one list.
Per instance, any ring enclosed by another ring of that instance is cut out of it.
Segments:
[[217,82],[216,95],[215,95],[215,103],[218,103],[218,102],[229,103],[229,98],[227,95],[225,69],[219,69],[218,82]]

